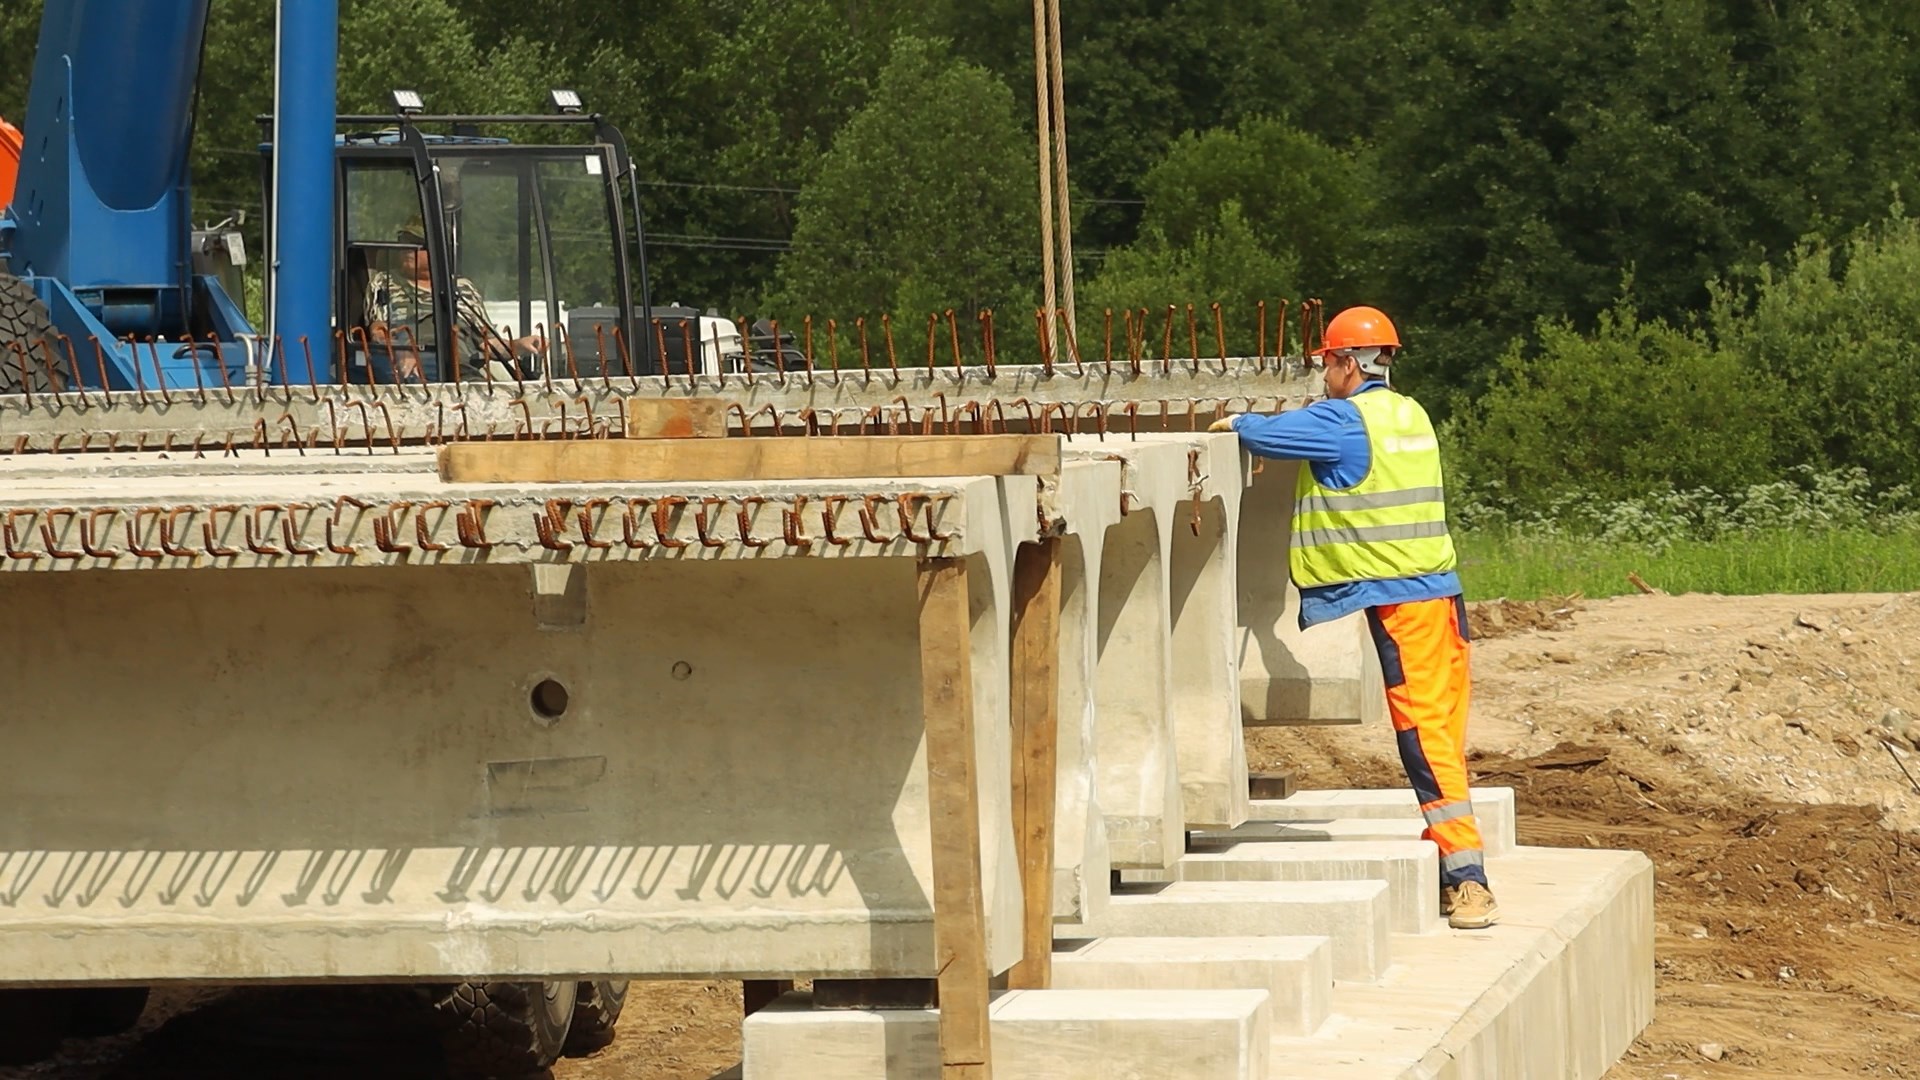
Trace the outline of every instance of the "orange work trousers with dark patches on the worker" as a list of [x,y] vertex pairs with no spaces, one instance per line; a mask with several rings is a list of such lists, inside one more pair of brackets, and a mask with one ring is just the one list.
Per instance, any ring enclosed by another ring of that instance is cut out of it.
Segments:
[[1421,799],[1427,840],[1440,847],[1440,884],[1486,884],[1480,824],[1467,794],[1467,603],[1461,596],[1382,603],[1367,628],[1386,676],[1386,713],[1400,763]]

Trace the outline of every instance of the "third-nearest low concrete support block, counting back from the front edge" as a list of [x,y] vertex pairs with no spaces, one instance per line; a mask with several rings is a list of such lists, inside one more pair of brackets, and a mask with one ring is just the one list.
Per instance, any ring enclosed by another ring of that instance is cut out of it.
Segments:
[[1334,978],[1386,967],[1392,917],[1386,882],[1171,882],[1114,894],[1091,926],[1058,938],[1260,938],[1332,942]]

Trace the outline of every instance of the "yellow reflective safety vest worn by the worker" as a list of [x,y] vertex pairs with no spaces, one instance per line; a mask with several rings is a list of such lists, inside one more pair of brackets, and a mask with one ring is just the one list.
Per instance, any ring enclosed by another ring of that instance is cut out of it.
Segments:
[[1288,552],[1294,584],[1313,588],[1452,571],[1440,440],[1427,409],[1384,388],[1348,402],[1367,429],[1367,475],[1352,488],[1329,488],[1300,463]]

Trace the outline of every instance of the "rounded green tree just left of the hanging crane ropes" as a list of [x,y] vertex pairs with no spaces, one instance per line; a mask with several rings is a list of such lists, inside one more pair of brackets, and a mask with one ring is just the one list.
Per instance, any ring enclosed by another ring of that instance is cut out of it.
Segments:
[[[778,311],[851,321],[1031,313],[1033,152],[1014,96],[941,42],[900,37],[801,194]],[[1016,323],[1018,325],[1018,323]]]

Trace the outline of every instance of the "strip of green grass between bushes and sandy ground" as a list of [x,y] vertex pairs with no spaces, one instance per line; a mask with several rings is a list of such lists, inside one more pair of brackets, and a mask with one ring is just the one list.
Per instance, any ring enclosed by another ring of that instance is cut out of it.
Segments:
[[1590,598],[1638,592],[1638,573],[1667,592],[1920,590],[1920,532],[1766,530],[1720,540],[1676,540],[1665,550],[1588,538],[1455,534],[1467,600]]

